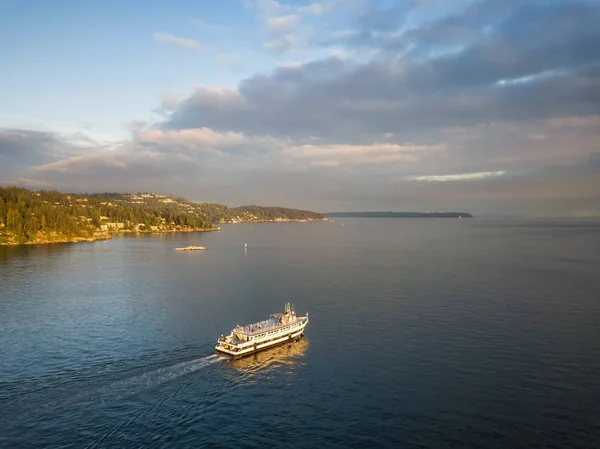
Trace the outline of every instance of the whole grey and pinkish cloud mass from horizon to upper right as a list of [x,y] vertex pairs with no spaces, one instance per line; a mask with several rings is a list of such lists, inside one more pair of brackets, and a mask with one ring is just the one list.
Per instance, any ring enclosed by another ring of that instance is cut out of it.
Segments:
[[0,179],[321,211],[597,207],[598,5],[384,3],[311,31],[337,2],[253,1],[263,50],[308,62],[166,93],[118,147],[4,130]]

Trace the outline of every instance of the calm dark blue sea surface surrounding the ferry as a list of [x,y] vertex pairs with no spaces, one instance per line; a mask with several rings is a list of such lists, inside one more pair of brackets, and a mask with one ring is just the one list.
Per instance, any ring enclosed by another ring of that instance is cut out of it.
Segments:
[[[285,301],[304,340],[213,354]],[[599,332],[593,221],[0,247],[0,447],[597,448]]]

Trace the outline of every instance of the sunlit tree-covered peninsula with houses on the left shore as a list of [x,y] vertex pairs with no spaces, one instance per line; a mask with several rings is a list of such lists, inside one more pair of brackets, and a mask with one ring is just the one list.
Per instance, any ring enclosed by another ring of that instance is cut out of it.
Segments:
[[110,239],[115,233],[218,231],[218,223],[324,220],[283,207],[228,207],[158,193],[66,194],[0,187],[0,245]]

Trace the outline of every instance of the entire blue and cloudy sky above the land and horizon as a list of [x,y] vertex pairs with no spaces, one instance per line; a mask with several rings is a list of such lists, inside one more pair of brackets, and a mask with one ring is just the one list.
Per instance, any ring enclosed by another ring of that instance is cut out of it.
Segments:
[[600,216],[597,0],[0,11],[0,185]]

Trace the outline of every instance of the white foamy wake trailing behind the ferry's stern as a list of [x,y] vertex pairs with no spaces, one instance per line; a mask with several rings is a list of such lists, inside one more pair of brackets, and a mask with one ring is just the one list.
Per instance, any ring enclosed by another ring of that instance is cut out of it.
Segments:
[[218,354],[212,354],[207,357],[201,357],[195,360],[189,360],[187,362],[181,362],[176,365],[166,366],[164,368],[158,368],[147,373],[138,374],[137,376],[130,377],[128,379],[119,380],[106,387],[97,390],[93,396],[102,403],[107,400],[120,399],[124,396],[131,396],[139,393],[142,390],[155,388],[158,385],[184,376],[194,371],[198,371],[204,367],[212,365],[213,363],[227,360],[226,357]]

